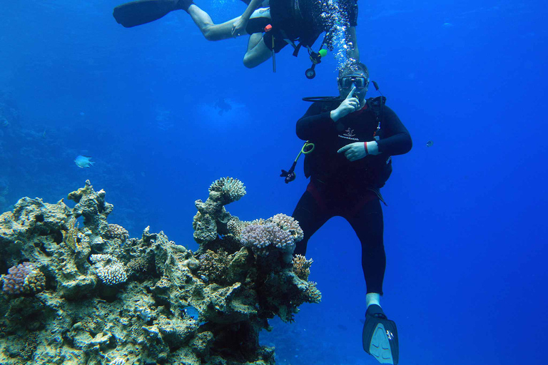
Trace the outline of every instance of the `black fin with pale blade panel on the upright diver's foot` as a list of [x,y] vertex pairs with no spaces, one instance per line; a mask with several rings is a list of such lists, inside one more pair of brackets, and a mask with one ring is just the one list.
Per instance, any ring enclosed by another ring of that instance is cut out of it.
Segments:
[[400,347],[397,342],[396,324],[387,319],[377,304],[367,308],[362,340],[365,352],[374,356],[380,364],[397,365]]

